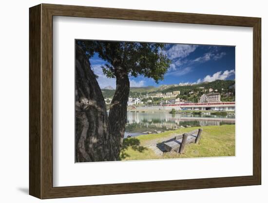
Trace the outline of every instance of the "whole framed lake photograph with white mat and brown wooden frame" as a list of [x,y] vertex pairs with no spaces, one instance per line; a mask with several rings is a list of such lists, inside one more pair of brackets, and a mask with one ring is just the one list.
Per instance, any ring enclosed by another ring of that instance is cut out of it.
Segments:
[[261,184],[261,19],[30,8],[40,199]]

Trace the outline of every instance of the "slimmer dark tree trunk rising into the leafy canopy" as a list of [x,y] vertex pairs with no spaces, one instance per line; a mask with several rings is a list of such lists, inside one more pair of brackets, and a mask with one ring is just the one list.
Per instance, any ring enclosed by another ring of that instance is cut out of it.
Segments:
[[116,89],[109,112],[110,130],[114,135],[115,154],[119,159],[120,149],[125,134],[127,122],[127,102],[130,91],[130,81],[127,71],[123,67],[115,67]]

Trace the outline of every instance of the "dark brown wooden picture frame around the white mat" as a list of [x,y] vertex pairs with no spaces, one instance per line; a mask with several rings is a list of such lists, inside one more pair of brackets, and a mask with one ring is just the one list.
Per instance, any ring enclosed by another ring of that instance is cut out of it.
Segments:
[[[29,193],[40,199],[261,184],[261,19],[72,5],[30,8]],[[253,28],[253,175],[53,187],[53,16]]]

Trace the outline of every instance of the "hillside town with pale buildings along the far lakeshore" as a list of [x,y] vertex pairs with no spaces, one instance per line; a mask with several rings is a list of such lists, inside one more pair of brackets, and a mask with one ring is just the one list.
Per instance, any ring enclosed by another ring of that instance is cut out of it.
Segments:
[[[143,93],[136,97],[130,96],[128,99],[128,110],[146,112],[169,111],[172,109],[190,111],[235,111],[234,84],[231,84],[228,88],[220,89],[198,86],[190,88],[188,91],[183,90],[182,93],[183,94],[181,94],[180,90],[175,90],[172,92]],[[106,105],[109,105],[111,101],[112,98],[105,98]]]

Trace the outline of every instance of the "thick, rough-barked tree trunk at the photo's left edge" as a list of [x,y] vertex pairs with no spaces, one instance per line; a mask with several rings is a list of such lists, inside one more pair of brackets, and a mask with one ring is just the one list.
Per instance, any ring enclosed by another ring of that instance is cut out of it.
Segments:
[[76,162],[118,159],[117,142],[109,126],[95,74],[84,51],[76,45]]

